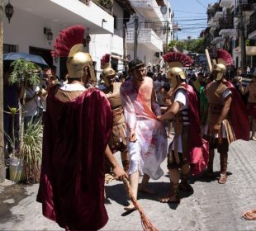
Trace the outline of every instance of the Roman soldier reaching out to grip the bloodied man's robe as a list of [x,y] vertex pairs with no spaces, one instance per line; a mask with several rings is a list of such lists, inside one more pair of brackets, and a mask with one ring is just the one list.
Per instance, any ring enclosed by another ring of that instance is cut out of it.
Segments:
[[208,153],[207,143],[201,139],[197,94],[185,82],[186,75],[181,68],[186,64],[191,64],[192,60],[187,55],[176,52],[165,54],[164,60],[169,63],[170,67],[167,78],[174,90],[173,103],[179,103],[177,113],[173,114],[172,108],[171,112],[166,112],[166,115],[173,118],[175,132],[173,142],[168,148],[168,169],[170,176],[173,171],[180,170],[181,182],[178,184],[179,179],[171,181],[168,197],[160,201],[178,203],[178,188],[185,191],[192,190],[188,184],[188,176],[190,172],[197,174],[206,167]]

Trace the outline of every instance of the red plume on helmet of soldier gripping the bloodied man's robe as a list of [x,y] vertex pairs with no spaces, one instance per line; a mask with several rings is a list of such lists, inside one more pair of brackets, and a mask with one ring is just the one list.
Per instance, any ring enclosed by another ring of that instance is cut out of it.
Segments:
[[164,54],[164,61],[168,62],[170,68],[190,66],[193,60],[186,54],[180,52],[169,52]]

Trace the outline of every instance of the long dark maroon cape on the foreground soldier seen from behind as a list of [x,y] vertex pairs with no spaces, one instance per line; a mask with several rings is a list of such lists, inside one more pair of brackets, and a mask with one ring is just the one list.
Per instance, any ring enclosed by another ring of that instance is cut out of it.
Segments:
[[89,89],[69,102],[47,97],[40,188],[45,217],[73,230],[101,229],[104,157],[111,134],[111,106],[103,92]]

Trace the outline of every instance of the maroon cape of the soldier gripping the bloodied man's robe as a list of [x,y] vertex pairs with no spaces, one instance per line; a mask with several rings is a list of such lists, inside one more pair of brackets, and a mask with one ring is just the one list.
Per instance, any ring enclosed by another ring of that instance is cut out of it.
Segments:
[[190,121],[190,167],[191,173],[197,175],[202,172],[209,159],[209,144],[205,139],[201,138],[201,126],[198,114],[197,94],[192,86],[186,84],[187,101],[189,106]]

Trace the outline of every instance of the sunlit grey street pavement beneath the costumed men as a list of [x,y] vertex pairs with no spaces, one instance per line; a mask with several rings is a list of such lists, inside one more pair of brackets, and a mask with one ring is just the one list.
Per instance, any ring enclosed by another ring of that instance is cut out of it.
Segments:
[[[117,154],[119,157],[119,155]],[[215,171],[219,175],[219,155]],[[244,211],[256,209],[256,142],[236,141],[230,146],[229,178],[225,185],[215,181],[192,178],[193,193],[182,193],[180,205],[158,201],[168,191],[165,174],[149,186],[157,196],[139,194],[146,215],[159,230],[256,230],[256,221],[241,219]],[[166,163],[163,163],[167,173]],[[36,202],[38,184],[33,186],[2,184],[0,186],[1,230],[60,230],[41,214]],[[103,230],[141,230],[137,211],[124,214],[126,191],[120,181],[106,186],[109,222]]]

